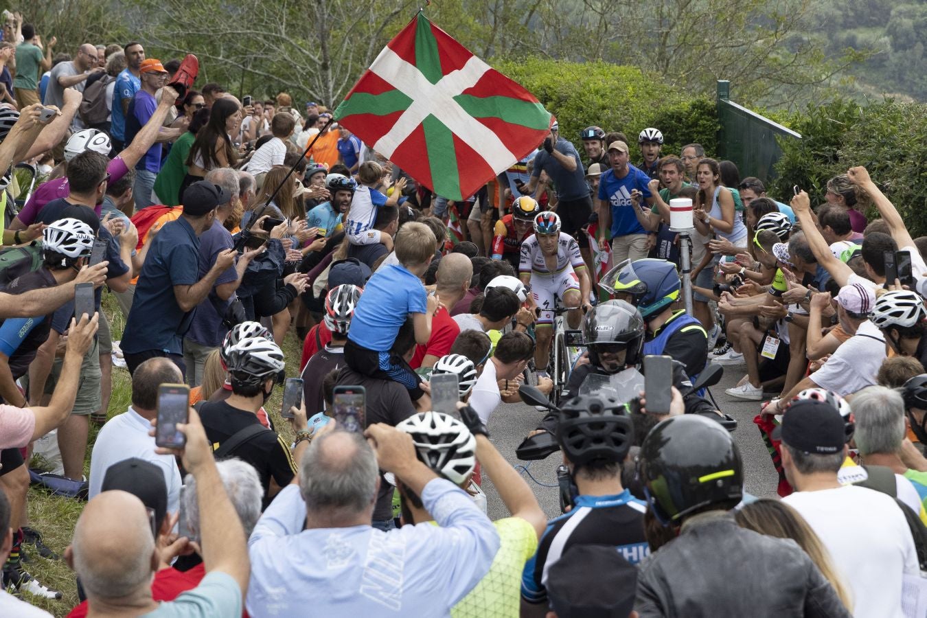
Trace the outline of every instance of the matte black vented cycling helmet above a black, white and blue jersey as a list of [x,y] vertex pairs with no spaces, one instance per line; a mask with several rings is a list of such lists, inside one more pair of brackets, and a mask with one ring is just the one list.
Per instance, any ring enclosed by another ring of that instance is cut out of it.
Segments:
[[576,467],[620,463],[634,443],[634,424],[615,397],[573,397],[560,409],[557,443]]

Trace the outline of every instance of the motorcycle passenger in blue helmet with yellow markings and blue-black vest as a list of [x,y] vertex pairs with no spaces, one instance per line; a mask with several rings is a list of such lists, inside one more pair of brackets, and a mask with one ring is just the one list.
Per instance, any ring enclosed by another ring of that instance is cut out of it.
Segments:
[[672,357],[685,365],[692,380],[697,378],[708,361],[708,334],[685,309],[673,310],[680,289],[676,266],[666,259],[644,258],[627,261],[616,271],[614,283],[603,280],[600,286],[641,312],[647,323],[643,353]]

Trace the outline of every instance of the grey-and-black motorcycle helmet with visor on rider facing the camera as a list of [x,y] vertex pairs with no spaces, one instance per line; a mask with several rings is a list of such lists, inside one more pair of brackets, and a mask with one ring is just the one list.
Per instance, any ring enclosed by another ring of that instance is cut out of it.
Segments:
[[[582,322],[583,341],[589,349],[593,366],[608,373],[617,373],[641,360],[644,324],[641,314],[624,300],[607,300],[591,309]],[[600,354],[625,350],[625,361],[617,367],[606,367]]]

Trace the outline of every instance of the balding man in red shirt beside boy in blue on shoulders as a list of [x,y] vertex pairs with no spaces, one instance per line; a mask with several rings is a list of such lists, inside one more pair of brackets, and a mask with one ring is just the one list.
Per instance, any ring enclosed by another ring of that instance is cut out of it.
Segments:
[[449,253],[441,258],[436,275],[440,308],[431,321],[431,338],[428,343],[415,347],[409,363],[413,369],[434,367],[438,359],[451,353],[451,346],[461,332],[461,327],[451,318],[451,308],[470,289],[471,277],[473,263],[463,253]]

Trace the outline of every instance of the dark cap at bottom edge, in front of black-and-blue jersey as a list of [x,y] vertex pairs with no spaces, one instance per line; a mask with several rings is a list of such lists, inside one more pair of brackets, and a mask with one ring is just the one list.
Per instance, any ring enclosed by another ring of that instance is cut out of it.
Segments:
[[637,568],[615,546],[574,545],[547,577],[557,618],[628,618],[636,592]]

